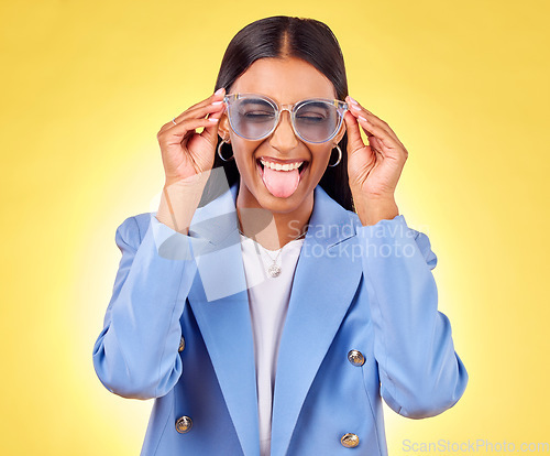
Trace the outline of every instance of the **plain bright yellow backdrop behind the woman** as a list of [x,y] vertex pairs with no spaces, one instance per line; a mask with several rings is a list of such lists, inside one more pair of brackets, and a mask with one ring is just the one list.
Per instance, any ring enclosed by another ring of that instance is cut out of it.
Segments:
[[[264,3],[267,3],[264,6]],[[470,383],[404,439],[550,442],[547,1],[2,1],[1,423],[6,455],[136,455],[151,402],[109,393],[92,345],[120,252],[156,210],[156,133],[208,97],[267,15],[328,23],[350,93],[409,151],[397,202],[439,258]],[[484,452],[480,452],[484,453]]]

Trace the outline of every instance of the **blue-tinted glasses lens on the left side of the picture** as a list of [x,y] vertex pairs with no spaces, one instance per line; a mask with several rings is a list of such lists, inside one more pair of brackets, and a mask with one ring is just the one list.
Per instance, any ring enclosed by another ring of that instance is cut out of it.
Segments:
[[242,138],[258,139],[275,123],[275,108],[262,98],[240,98],[229,111],[231,127]]

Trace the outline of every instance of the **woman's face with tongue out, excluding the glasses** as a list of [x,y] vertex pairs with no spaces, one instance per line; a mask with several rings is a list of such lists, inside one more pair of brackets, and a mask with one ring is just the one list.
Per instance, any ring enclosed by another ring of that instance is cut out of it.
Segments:
[[[254,62],[235,80],[229,93],[265,95],[279,106],[294,105],[308,98],[337,98],[332,83],[322,73],[295,57],[261,58]],[[289,112],[283,111],[280,116],[275,131],[257,141],[235,134],[227,116],[220,120],[220,135],[231,140],[241,175],[241,207],[262,207],[272,213],[292,213],[305,203],[312,207],[312,192],[327,169],[331,150],[345,132],[342,123],[338,134],[330,141],[306,143],[294,133]],[[304,162],[304,165],[298,171],[264,171],[261,160],[283,164]]]

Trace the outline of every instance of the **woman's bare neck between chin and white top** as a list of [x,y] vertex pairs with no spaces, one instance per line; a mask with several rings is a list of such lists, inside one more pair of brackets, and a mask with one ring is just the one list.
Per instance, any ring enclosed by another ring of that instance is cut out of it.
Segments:
[[260,206],[257,200],[237,196],[237,213],[241,232],[268,250],[277,250],[286,243],[301,239],[314,210],[314,193],[297,209],[284,213]]

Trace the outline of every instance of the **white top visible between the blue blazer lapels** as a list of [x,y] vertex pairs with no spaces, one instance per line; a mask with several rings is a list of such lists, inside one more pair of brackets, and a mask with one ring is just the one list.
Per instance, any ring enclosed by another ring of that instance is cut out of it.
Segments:
[[[278,346],[290,298],[294,272],[302,243],[304,238],[293,240],[283,246],[279,253],[278,250],[267,250],[253,239],[241,235],[241,250],[254,337],[260,454],[262,456],[268,456],[271,452],[273,390]],[[275,259],[282,271],[278,276],[272,278],[267,273],[267,269]]]

